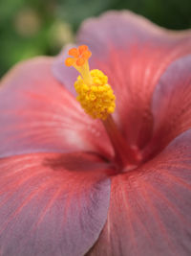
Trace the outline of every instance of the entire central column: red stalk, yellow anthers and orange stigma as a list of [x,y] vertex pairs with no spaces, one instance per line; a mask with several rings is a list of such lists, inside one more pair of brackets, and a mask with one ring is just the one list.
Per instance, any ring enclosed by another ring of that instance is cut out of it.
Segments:
[[118,172],[135,169],[141,161],[141,155],[136,147],[130,148],[126,144],[111,116],[116,108],[116,97],[108,84],[108,77],[98,69],[90,70],[88,59],[92,53],[88,46],[72,48],[69,55],[71,57],[66,58],[65,64],[73,66],[80,74],[74,82],[76,100],[87,114],[102,121],[115,150],[113,162]]

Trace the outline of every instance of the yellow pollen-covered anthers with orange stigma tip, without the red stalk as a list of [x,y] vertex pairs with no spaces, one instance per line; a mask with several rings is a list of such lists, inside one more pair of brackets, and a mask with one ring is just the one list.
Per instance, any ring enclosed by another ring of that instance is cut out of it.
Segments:
[[105,120],[116,107],[116,97],[108,84],[107,76],[98,69],[90,71],[88,58],[92,53],[88,50],[88,46],[72,48],[69,50],[69,55],[72,58],[66,58],[65,64],[74,66],[80,73],[74,82],[76,100],[91,117]]

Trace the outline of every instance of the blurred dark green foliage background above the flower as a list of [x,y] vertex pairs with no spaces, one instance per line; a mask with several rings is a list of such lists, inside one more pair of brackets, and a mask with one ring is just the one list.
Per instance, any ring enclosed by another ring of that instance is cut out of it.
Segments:
[[57,54],[83,19],[122,9],[169,29],[191,27],[191,0],[2,0],[0,77],[21,59]]

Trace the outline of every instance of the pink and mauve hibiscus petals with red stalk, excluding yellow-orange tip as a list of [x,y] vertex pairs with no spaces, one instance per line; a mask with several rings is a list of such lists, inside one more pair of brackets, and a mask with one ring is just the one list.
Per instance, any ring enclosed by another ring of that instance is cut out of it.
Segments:
[[116,110],[101,121],[76,101],[72,46],[3,78],[0,255],[190,255],[191,32],[107,12],[76,41]]

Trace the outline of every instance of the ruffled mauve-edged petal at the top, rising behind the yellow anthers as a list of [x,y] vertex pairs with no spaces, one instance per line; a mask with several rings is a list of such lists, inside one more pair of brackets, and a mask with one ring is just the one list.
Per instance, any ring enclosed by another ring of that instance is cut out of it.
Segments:
[[[132,12],[107,12],[83,23],[77,43],[93,52],[91,68],[108,75],[117,96],[115,118],[128,143],[143,148],[152,134],[153,89],[173,59],[191,52],[191,31],[164,30]],[[64,74],[60,81],[73,84],[74,71],[55,62],[54,70]]]

